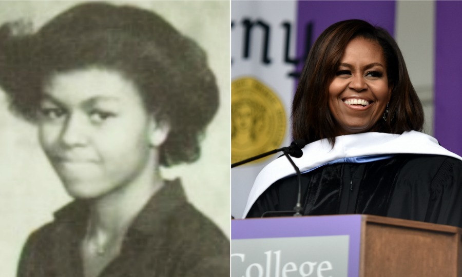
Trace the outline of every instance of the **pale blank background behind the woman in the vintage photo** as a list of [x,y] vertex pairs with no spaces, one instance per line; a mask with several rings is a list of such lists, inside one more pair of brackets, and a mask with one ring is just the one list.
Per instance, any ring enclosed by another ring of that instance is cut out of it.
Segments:
[[[189,201],[229,238],[229,2],[106,2],[155,11],[207,52],[220,90],[219,111],[207,129],[200,160],[163,169],[162,174],[165,179],[180,177]],[[82,1],[0,1],[0,24],[24,19],[35,30],[78,3]],[[70,200],[38,145],[36,128],[9,111],[0,88],[0,276],[15,276],[27,236]]]

